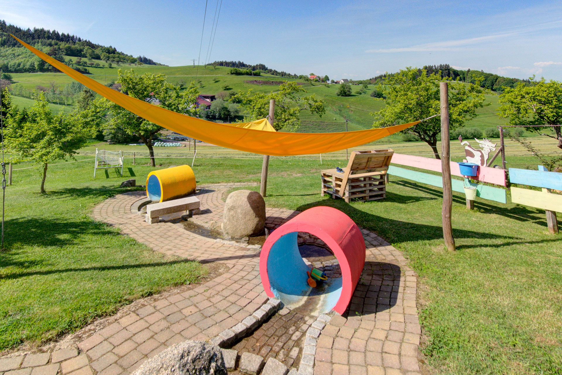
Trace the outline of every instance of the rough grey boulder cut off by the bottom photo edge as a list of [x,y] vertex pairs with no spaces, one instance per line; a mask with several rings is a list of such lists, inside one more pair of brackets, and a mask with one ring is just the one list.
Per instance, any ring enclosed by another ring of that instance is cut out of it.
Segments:
[[144,362],[133,375],[227,375],[220,348],[184,341]]

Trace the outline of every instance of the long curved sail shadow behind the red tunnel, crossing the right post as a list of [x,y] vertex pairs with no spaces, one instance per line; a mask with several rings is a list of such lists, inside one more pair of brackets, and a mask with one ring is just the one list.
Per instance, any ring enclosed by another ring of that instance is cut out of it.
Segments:
[[[372,202],[368,202],[372,203]],[[400,243],[400,242],[410,242],[410,241],[430,241],[439,240],[443,238],[443,228],[438,225],[428,225],[405,222],[402,220],[385,218],[383,216],[378,216],[371,214],[369,212],[357,209],[352,205],[346,204],[342,199],[338,200],[321,200],[316,202],[311,202],[310,204],[302,205],[297,207],[298,211],[304,211],[315,206],[330,206],[334,207],[350,216],[350,218],[360,227],[369,229],[379,234],[383,238],[386,238],[389,242]],[[510,236],[499,236],[493,233],[483,233],[469,231],[466,229],[453,229],[453,235],[455,238],[488,238],[488,239],[521,239],[524,237],[510,237]]]

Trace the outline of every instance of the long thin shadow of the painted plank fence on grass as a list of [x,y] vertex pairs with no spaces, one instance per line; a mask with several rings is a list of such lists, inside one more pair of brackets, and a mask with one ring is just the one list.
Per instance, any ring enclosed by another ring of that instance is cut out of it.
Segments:
[[[437,189],[429,188],[422,184],[417,184],[414,182],[406,181],[406,180],[399,180],[399,181],[392,181],[400,186],[409,187],[412,189],[423,191],[424,193],[433,195],[438,198],[443,197],[443,192]],[[387,193],[388,195],[388,193]],[[466,204],[466,201],[463,198],[459,198],[457,196],[453,196],[453,201],[460,205]],[[501,216],[505,216],[506,218],[517,220],[518,222],[544,222],[543,215],[537,213],[536,211],[529,210],[527,207],[498,207],[495,205],[487,204],[482,200],[474,201],[474,208],[477,209],[479,212],[483,214],[497,214]]]

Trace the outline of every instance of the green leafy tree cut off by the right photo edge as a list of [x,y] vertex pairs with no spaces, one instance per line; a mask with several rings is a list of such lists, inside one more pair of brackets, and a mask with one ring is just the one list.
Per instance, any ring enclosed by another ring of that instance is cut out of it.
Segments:
[[[498,115],[509,118],[510,125],[540,125],[528,128],[536,132],[552,125],[562,125],[562,83],[554,80],[546,82],[544,78],[540,81],[532,79],[530,86],[519,83],[514,88],[505,88],[500,96]],[[562,148],[560,126],[552,128],[558,147]]]

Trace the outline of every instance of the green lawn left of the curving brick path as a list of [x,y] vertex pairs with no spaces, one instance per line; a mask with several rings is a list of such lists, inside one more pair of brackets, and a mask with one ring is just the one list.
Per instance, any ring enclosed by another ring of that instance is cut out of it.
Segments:
[[[6,188],[6,249],[0,251],[0,351],[40,344],[206,268],[153,252],[91,217],[94,205],[130,189],[92,179],[93,161],[15,170]],[[23,168],[26,164],[16,165]],[[103,176],[103,173],[99,175]]]

